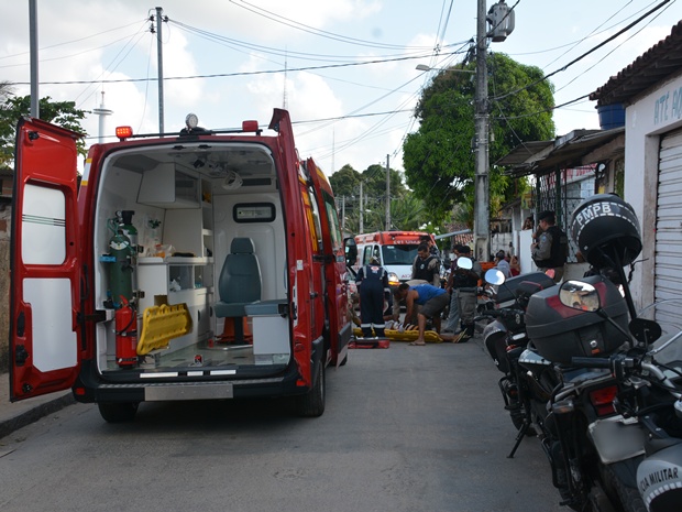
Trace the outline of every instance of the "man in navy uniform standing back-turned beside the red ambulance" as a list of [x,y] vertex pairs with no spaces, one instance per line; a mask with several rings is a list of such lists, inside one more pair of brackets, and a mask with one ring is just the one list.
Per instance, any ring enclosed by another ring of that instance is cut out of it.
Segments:
[[369,265],[361,266],[355,276],[355,284],[360,290],[360,328],[363,338],[372,337],[372,326],[376,337],[386,336],[384,328],[384,299],[391,296],[388,273],[378,264],[378,259],[372,257]]

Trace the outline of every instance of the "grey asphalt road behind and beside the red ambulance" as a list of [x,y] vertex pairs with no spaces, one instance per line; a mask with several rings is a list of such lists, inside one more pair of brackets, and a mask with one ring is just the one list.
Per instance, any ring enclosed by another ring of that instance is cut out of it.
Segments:
[[515,431],[480,340],[352,350],[327,411],[282,401],[76,404],[0,440],[0,510],[556,512],[535,438]]

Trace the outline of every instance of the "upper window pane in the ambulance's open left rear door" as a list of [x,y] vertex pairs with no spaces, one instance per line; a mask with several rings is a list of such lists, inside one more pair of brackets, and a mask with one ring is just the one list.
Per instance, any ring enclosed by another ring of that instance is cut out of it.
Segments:
[[21,213],[24,263],[59,265],[66,260],[66,198],[55,188],[26,185]]

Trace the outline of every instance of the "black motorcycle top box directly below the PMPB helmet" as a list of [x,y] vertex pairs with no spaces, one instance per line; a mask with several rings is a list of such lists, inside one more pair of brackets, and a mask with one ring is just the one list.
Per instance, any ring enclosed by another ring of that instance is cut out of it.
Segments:
[[[604,313],[627,333],[627,304],[616,285],[596,275],[582,281],[595,286]],[[561,304],[558,292],[556,286],[536,293],[526,311],[528,337],[544,359],[570,364],[573,357],[604,357],[627,340],[617,327],[597,313]]]

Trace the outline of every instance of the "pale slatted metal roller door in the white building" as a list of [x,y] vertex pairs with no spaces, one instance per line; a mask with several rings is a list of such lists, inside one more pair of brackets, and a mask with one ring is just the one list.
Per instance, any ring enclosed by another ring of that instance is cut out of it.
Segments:
[[656,299],[682,291],[682,130],[661,138],[656,214]]

